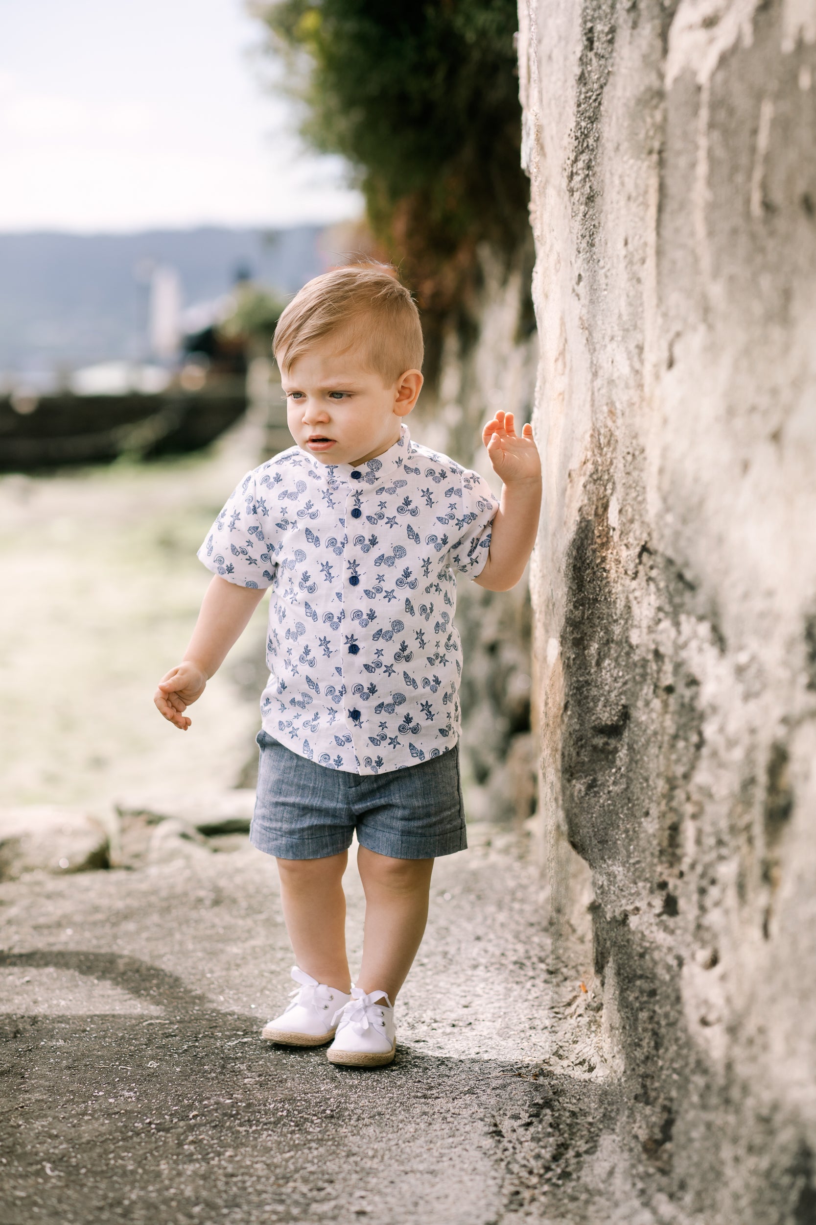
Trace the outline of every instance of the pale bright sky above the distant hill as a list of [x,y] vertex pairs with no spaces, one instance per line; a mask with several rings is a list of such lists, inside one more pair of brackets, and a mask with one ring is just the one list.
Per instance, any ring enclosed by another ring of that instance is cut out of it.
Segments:
[[243,0],[0,0],[0,230],[357,216],[264,91]]

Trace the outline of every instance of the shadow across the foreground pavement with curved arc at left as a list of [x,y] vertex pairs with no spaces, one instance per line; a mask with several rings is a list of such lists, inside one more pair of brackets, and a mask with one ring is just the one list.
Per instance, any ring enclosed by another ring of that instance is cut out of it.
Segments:
[[164,1009],[0,1020],[4,1225],[585,1219],[601,1085],[410,1047],[389,1069],[335,1068],[133,957],[0,965],[73,970]]

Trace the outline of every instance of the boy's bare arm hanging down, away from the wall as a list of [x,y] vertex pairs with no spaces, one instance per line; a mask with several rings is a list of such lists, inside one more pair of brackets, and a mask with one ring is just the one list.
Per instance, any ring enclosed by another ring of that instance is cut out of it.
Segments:
[[204,692],[207,681],[250,624],[264,592],[263,587],[228,583],[218,575],[207,588],[185,658],[161,677],[153,696],[159,712],[181,731],[191,723],[184,712]]

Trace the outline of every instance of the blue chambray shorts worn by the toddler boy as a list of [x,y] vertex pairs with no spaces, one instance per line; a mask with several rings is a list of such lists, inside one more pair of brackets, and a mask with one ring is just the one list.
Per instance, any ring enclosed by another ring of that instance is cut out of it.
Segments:
[[436,859],[465,850],[459,746],[389,771],[352,774],[316,766],[259,731],[258,791],[250,842],[279,859],[324,859],[351,835],[378,855]]

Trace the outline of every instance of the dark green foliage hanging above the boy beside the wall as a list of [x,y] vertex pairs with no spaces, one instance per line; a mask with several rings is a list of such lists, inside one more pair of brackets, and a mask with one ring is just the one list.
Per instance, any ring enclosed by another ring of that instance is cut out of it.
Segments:
[[303,135],[352,165],[368,221],[426,307],[462,292],[480,241],[527,227],[515,0],[276,0]]

